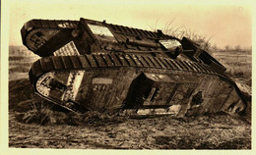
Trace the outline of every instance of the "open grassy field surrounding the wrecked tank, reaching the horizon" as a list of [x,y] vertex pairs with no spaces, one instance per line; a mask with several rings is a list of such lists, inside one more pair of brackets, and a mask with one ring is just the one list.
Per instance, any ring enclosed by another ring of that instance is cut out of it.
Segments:
[[38,57],[26,52],[24,48],[12,47],[9,58],[9,146],[79,149],[251,149],[251,55],[242,55],[246,57],[232,52],[214,53],[214,57],[224,63],[228,75],[238,82],[237,85],[249,101],[245,116],[220,113],[182,119],[132,119],[96,112],[77,115],[41,99],[33,94],[28,76],[32,62]]

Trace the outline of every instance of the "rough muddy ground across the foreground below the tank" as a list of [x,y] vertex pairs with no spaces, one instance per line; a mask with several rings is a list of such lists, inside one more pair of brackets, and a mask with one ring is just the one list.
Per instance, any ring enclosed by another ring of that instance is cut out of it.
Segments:
[[227,115],[128,119],[97,126],[24,124],[10,113],[9,146],[79,149],[250,149],[250,125]]

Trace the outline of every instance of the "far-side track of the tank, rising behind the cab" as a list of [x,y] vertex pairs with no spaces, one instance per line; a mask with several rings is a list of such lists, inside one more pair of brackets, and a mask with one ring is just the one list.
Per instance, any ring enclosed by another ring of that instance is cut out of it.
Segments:
[[[128,26],[117,26],[112,24],[106,24],[105,22],[96,22],[92,20],[83,19],[82,21],[88,22],[90,24],[100,24],[100,26],[105,26],[108,28],[115,38],[113,38],[113,42],[122,42],[126,43],[129,42],[130,45],[127,45],[128,48],[131,48],[136,51],[145,51],[146,49],[152,49],[155,50],[155,48],[160,48],[160,44],[151,44],[147,41],[144,41],[143,39],[147,38],[149,40],[164,40],[164,39],[175,39],[179,40],[178,38],[175,38],[170,35],[163,34],[161,31],[154,32],[149,30],[143,30]],[[90,25],[88,25],[90,26]],[[63,29],[66,29],[67,32],[63,32],[63,35],[67,35],[67,33],[71,33],[72,30],[79,27],[79,21],[55,21],[55,20],[32,20],[23,26],[21,29],[22,31],[22,37],[23,37],[23,43],[25,46],[27,46],[30,50],[32,50],[35,54],[39,56],[50,56],[51,53],[40,53],[37,50],[44,45],[48,40],[50,40],[51,37],[53,37],[55,34],[60,32]],[[81,28],[81,27],[80,27]],[[73,31],[72,35],[78,35],[79,32],[81,32],[81,29],[76,29],[77,31]],[[54,31],[54,32],[52,32]],[[36,32],[42,33],[41,35],[37,36]],[[72,37],[70,34],[68,37]],[[94,34],[91,34],[94,35]],[[134,37],[132,39],[128,39],[125,36]],[[63,37],[63,36],[61,36]],[[62,39],[62,38],[58,39]],[[139,38],[139,41],[135,39],[135,37]],[[96,37],[94,37],[96,39]],[[140,40],[143,38],[142,40]],[[109,40],[108,40],[109,41]],[[54,42],[56,43],[56,42]],[[136,46],[139,46],[139,48],[136,48]],[[145,48],[145,47],[148,48]],[[51,50],[51,48],[49,48]],[[156,51],[156,50],[155,50]]]

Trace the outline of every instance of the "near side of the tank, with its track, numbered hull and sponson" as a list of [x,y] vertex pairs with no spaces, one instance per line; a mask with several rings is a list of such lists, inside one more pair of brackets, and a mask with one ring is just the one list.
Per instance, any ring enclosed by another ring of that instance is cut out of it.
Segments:
[[[72,74],[80,78],[72,82]],[[30,78],[40,96],[78,113],[121,110],[182,117],[246,108],[229,78],[204,64],[165,58],[115,53],[46,57],[33,64]]]

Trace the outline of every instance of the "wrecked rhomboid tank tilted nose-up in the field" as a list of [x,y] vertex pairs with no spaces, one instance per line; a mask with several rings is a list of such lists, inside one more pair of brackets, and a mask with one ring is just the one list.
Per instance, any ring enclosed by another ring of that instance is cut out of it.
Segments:
[[224,66],[189,38],[83,18],[32,20],[21,32],[42,57],[29,73],[34,91],[70,111],[184,117],[246,109]]

